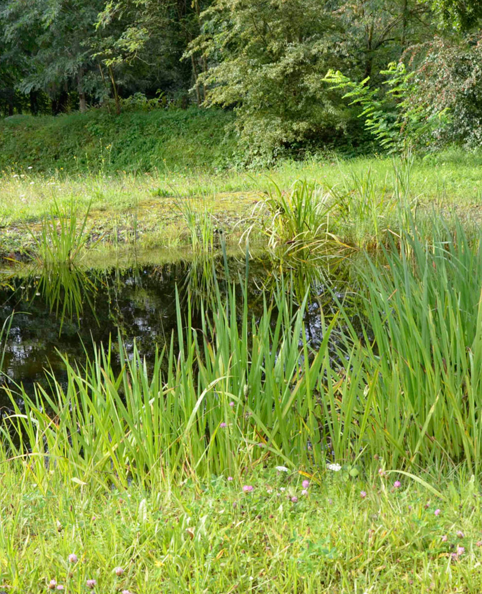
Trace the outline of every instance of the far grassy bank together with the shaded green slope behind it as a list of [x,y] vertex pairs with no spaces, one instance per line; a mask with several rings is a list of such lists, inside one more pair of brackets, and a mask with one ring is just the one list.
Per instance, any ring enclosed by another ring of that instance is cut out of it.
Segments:
[[226,113],[188,110],[2,122],[0,251],[32,249],[25,225],[37,232],[53,199],[61,209],[73,203],[79,213],[91,204],[92,238],[116,249],[134,238],[139,249],[189,244],[186,210],[197,213],[199,226],[212,217],[228,243],[236,244],[253,222],[253,209],[253,236],[262,235],[258,203],[271,181],[288,189],[295,179],[318,186],[319,200],[331,209],[328,230],[356,247],[399,233],[400,191],[420,225],[433,211],[446,218],[456,214],[467,226],[480,220],[478,155],[449,151],[415,159],[408,176],[401,162],[394,165],[388,157],[325,156],[247,171],[232,168],[235,138],[224,138],[230,121]]

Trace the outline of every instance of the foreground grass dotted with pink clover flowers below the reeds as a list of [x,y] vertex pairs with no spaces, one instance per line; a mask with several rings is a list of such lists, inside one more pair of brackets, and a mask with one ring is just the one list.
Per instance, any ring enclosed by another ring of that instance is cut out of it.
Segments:
[[[1,587],[36,594],[55,580],[53,589],[72,594],[480,592],[473,482],[443,479],[447,498],[437,500],[399,478],[398,487],[397,475],[345,483],[331,472],[303,489],[303,476],[269,465],[233,481],[99,493],[55,473],[41,489],[18,464],[3,464]],[[96,580],[92,589],[87,580]]]

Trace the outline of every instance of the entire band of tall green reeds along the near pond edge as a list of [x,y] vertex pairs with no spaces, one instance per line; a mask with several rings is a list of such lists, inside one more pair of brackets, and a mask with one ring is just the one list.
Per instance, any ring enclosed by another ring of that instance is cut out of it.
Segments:
[[214,283],[200,328],[177,298],[179,350],[172,339],[151,366],[119,339],[118,373],[109,345],[84,368],[64,358],[66,384],[51,374],[33,396],[10,390],[4,440],[41,484],[52,467],[125,486],[239,475],[268,457],[314,476],[335,461],[347,476],[382,466],[423,481],[421,469],[460,465],[478,475],[480,236],[470,243],[461,225],[434,225],[432,236],[405,234],[383,266],[366,256],[361,337],[353,306],[339,303],[312,350],[306,298],[297,304],[283,280],[257,318],[247,281],[240,303],[234,287],[224,299]]

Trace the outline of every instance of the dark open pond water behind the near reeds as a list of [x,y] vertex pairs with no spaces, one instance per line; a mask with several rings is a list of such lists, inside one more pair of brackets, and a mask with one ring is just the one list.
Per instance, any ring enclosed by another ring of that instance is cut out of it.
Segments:
[[[229,260],[226,274],[226,266],[221,261],[216,264],[221,292],[237,279],[239,307],[242,307],[240,281],[245,277],[244,266],[242,262]],[[249,267],[248,299],[255,316],[262,311],[259,287],[271,274],[269,266],[267,262],[258,262]],[[42,275],[37,272],[31,276],[11,277],[0,287],[0,323],[14,312],[9,334],[2,345],[5,347],[3,371],[7,383],[23,383],[27,393],[33,393],[34,382],[46,383],[46,369],[51,369],[58,380],[64,381],[61,353],[68,356],[71,364],[83,365],[86,353],[93,353],[93,345],[102,343],[107,349],[112,339],[110,350],[115,366],[119,362],[118,333],[128,352],[132,351],[135,341],[147,361],[153,359],[156,348],[161,349],[166,342],[169,344],[173,330],[176,343],[176,286],[183,311],[188,308],[188,300],[191,302],[192,327],[201,328],[199,303],[207,287],[205,274],[196,270],[192,263],[85,271],[76,279],[80,301],[74,296],[71,311],[67,308],[64,315],[65,289],[59,290],[58,298],[52,298],[49,290],[58,285],[56,279],[50,281],[43,283]],[[307,308],[306,322],[307,338],[316,345],[321,340],[318,302],[313,301]],[[8,407],[8,399],[0,392],[0,407],[5,406]]]

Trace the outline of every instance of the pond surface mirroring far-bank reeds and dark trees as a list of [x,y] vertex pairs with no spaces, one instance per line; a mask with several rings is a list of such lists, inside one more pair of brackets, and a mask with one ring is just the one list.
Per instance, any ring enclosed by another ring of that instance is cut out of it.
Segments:
[[[347,268],[337,268],[340,287]],[[287,292],[293,295],[293,312],[311,287],[306,333],[316,347],[323,338],[320,311],[327,318],[336,309],[332,293],[326,290],[326,279],[331,276],[332,283],[334,279],[328,267],[318,276],[293,267],[282,274],[283,266],[274,266],[272,261],[249,261],[246,256],[102,271],[58,269],[58,276],[53,270],[37,269],[0,286],[0,325],[15,312],[5,342],[4,373],[31,392],[34,382],[45,384],[45,369],[61,381],[65,377],[59,353],[83,365],[86,355],[93,355],[93,344],[100,343],[111,350],[114,368],[120,368],[118,333],[128,353],[132,353],[135,342],[149,362],[171,336],[176,349],[176,287],[183,309],[189,301],[192,328],[201,328],[201,297],[209,295],[213,287],[222,294],[237,280],[237,302],[243,307],[242,285],[248,269],[248,304],[255,317],[261,314],[263,299],[269,300],[269,292],[277,283],[286,283]],[[211,315],[209,309],[204,309],[204,315]],[[191,328],[187,334],[189,331]]]

